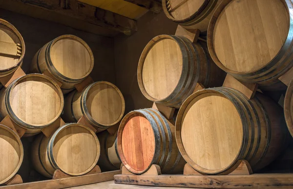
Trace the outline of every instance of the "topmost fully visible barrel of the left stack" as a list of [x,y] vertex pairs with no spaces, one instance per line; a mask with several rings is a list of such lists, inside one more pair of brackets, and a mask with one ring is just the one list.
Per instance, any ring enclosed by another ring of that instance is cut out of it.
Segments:
[[64,94],[75,89],[94,67],[94,56],[83,39],[63,35],[45,44],[32,60],[31,72],[46,70],[62,83]]

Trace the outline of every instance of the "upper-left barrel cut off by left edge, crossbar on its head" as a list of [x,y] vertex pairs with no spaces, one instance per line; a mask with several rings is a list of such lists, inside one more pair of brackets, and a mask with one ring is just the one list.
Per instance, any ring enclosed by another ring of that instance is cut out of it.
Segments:
[[25,44],[20,32],[3,19],[0,19],[0,36],[0,77],[4,77],[21,66]]

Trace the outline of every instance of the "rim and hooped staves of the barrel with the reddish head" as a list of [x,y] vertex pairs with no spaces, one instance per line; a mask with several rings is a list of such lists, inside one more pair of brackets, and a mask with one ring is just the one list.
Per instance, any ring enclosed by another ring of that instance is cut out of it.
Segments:
[[[125,123],[128,121],[128,118],[131,117],[131,115],[139,113],[140,115],[146,117],[146,119],[149,120],[149,122],[151,123],[151,126],[153,128],[154,134],[155,134],[155,153],[154,153],[154,157],[152,162],[149,164],[149,166],[146,168],[146,170],[143,171],[137,171],[137,170],[133,170],[126,162],[125,157],[124,157],[124,153],[122,150],[122,133],[123,133],[123,129],[125,126]],[[158,117],[156,117],[158,116]],[[156,119],[156,120],[155,120]],[[163,121],[163,122],[161,122]],[[158,126],[158,122],[161,122],[162,125],[164,125],[164,132],[168,132],[165,133],[169,140],[162,140],[162,128],[160,128],[160,126]],[[118,136],[117,136],[117,151],[119,153],[119,157],[122,160],[122,163],[124,164],[124,166],[126,167],[127,170],[129,170],[130,172],[134,173],[134,174],[143,174],[145,173],[152,164],[156,164],[158,166],[160,166],[162,173],[178,173],[178,172],[182,172],[184,165],[185,165],[185,161],[182,158],[177,145],[175,143],[175,136],[174,136],[174,132],[171,132],[170,129],[170,122],[165,118],[165,116],[163,116],[159,111],[154,110],[154,109],[141,109],[141,110],[135,110],[132,111],[128,114],[126,114],[126,116],[123,118],[119,130],[118,130]],[[175,129],[175,128],[174,128]],[[173,130],[174,130],[173,129]],[[174,130],[175,131],[175,130]],[[162,142],[166,142],[168,144],[162,145]],[[164,150],[164,146],[168,149]],[[176,150],[178,153],[176,153],[175,155],[172,155],[172,151]],[[163,151],[168,151],[167,156],[166,153],[162,154]]]

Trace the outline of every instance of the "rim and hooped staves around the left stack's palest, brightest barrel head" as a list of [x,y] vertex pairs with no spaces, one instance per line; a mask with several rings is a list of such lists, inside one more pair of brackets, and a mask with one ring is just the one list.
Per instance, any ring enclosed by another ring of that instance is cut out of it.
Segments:
[[[10,101],[9,101],[9,95],[10,95],[10,91],[13,90],[13,88],[17,85],[18,82],[21,81],[21,79],[30,77],[30,76],[37,76],[37,77],[42,77],[44,79],[47,79],[51,84],[53,84],[57,91],[59,91],[59,96],[60,96],[60,101],[61,101],[61,106],[60,106],[60,110],[59,113],[57,113],[57,115],[54,117],[54,119],[52,119],[51,121],[49,121],[46,124],[43,124],[42,126],[36,126],[36,125],[31,125],[31,124],[27,124],[25,122],[23,122],[21,119],[19,119],[15,113],[13,113],[13,110],[10,107]],[[59,87],[59,85],[50,77],[48,76],[44,76],[42,74],[28,74],[25,76],[21,76],[17,79],[15,79],[12,83],[9,84],[9,86],[5,89],[3,88],[0,91],[0,102],[5,104],[5,109],[1,109],[0,110],[0,118],[3,119],[6,115],[9,115],[9,117],[11,118],[11,120],[17,124],[18,126],[20,126],[21,128],[25,129],[26,132],[24,134],[24,136],[32,136],[35,134],[38,134],[41,132],[42,128],[45,128],[49,125],[51,125],[54,121],[56,121],[58,119],[58,117],[61,115],[62,111],[63,111],[63,107],[64,107],[64,98],[63,98],[63,93]]]

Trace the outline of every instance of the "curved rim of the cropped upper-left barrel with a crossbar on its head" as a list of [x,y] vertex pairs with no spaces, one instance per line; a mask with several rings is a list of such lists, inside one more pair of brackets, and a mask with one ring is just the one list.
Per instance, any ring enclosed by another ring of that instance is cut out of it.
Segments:
[[15,72],[18,69],[18,67],[21,66],[23,57],[25,55],[25,43],[24,43],[24,40],[23,40],[23,38],[21,36],[21,33],[14,27],[14,25],[12,25],[11,23],[9,23],[8,21],[6,21],[4,19],[0,19],[0,24],[5,25],[6,27],[8,27],[9,29],[11,29],[17,35],[17,37],[21,41],[21,48],[22,48],[22,50],[21,50],[21,57],[19,58],[19,61],[17,62],[17,64],[15,64],[14,66],[12,66],[11,68],[4,69],[4,70],[0,70],[0,76],[1,77],[4,77],[4,76],[8,76],[9,74]]

